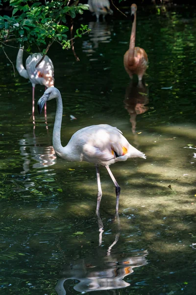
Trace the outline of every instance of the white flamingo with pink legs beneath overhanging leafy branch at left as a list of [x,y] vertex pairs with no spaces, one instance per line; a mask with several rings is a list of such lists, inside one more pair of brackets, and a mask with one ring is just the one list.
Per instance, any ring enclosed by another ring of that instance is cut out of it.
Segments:
[[[42,58],[42,55],[33,54],[26,59],[26,69],[23,65],[23,52],[24,47],[19,49],[17,59],[16,59],[16,67],[19,74],[29,79],[32,84],[32,116],[33,122],[35,121],[34,117],[34,109],[35,109],[35,85],[45,85],[46,88],[54,86],[54,66],[51,59],[48,56],[41,61],[38,67],[35,67],[39,60]],[[45,118],[46,118],[46,105],[45,105]]]

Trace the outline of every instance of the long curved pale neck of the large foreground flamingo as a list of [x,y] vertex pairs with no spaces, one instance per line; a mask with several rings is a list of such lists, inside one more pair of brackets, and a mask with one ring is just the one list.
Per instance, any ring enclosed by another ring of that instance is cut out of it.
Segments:
[[52,136],[52,144],[55,152],[61,156],[63,153],[63,147],[61,145],[61,122],[63,117],[63,103],[61,94],[59,92],[58,97],[56,97],[56,116],[54,121],[54,129]]

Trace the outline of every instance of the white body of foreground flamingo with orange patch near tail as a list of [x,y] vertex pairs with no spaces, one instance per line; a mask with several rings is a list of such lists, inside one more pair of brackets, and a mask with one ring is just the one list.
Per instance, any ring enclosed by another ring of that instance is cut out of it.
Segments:
[[132,147],[122,132],[107,124],[93,125],[75,132],[64,153],[57,154],[69,161],[86,161],[109,166],[128,158],[145,155]]

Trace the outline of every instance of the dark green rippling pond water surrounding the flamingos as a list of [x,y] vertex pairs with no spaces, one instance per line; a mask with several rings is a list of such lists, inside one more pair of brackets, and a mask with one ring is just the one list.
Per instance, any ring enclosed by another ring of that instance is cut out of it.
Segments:
[[[111,166],[122,189],[119,218],[113,182],[100,168],[98,218],[94,165],[56,158],[55,101],[47,105],[48,132],[37,112],[33,129],[31,84],[14,77],[1,52],[0,294],[194,295],[196,20],[187,11],[138,12],[145,85],[136,77],[130,84],[123,68],[130,22],[90,26],[74,44],[80,62],[71,50],[49,51],[63,97],[62,143],[107,123],[147,160]],[[15,60],[17,50],[8,54]],[[36,86],[36,101],[43,91]]]

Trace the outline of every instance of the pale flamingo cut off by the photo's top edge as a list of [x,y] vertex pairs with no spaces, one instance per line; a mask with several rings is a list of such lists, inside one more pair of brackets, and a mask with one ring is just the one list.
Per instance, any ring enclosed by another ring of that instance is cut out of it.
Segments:
[[97,22],[99,21],[99,15],[102,14],[103,20],[106,14],[113,14],[113,10],[110,9],[109,0],[88,0],[89,10],[95,13],[97,17]]

